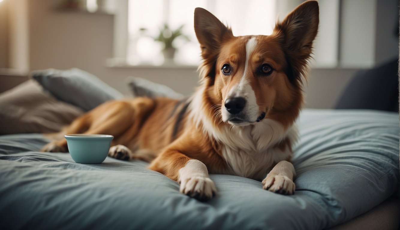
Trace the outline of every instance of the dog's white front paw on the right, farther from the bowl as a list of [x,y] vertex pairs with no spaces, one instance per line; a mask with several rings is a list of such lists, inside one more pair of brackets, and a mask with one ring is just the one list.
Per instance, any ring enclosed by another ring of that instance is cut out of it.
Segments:
[[294,194],[296,185],[293,180],[287,176],[268,174],[267,177],[262,180],[262,188],[285,195]]

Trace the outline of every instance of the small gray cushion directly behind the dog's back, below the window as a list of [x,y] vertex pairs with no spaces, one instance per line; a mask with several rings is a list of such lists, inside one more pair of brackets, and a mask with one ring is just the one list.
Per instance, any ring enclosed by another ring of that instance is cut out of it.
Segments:
[[134,97],[169,97],[182,99],[184,96],[170,87],[141,77],[128,77],[128,85]]

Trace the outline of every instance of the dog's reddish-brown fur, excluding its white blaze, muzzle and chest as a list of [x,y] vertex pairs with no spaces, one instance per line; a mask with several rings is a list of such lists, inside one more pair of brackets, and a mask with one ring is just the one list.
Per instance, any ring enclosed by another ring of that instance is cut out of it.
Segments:
[[[225,129],[230,130],[232,125],[222,121],[218,112],[223,109],[221,103],[224,104],[228,93],[241,81],[242,76],[251,79],[250,85],[258,110],[265,112],[265,119],[277,122],[284,131],[292,127],[303,104],[302,83],[318,28],[318,4],[316,1],[303,3],[282,22],[278,22],[270,36],[235,37],[229,28],[201,8],[196,8],[194,22],[202,48],[203,63],[200,66],[202,86],[191,100],[135,98],[109,101],[76,119],[62,133],[114,135],[112,145],[128,147],[133,151],[132,158],[149,160],[155,157],[149,169],[161,172],[176,181],[180,179],[180,169],[191,159],[204,163],[211,173],[237,174],[232,169],[232,163],[224,155],[226,148],[236,147],[224,143],[222,139],[205,130],[212,129],[221,133],[224,133]],[[246,43],[250,38],[256,39],[257,46],[249,56],[248,63],[245,63],[248,52]],[[221,73],[224,63],[231,63],[231,75]],[[270,64],[274,69],[268,77],[258,77],[256,73],[252,73],[252,69],[263,63]],[[247,64],[249,73],[244,72]],[[193,105],[189,105],[195,99],[201,101],[196,105],[197,115],[192,114]],[[207,127],[207,124],[202,122],[204,120],[200,121],[196,116],[210,121],[212,127]],[[250,125],[257,126],[258,123]],[[236,134],[225,132],[224,135]],[[291,137],[283,136],[268,146],[272,151],[268,154],[279,154],[274,153],[274,150],[291,153],[293,142]],[[240,147],[237,148],[240,150]],[[140,149],[148,150],[146,155],[135,154]],[[67,151],[66,140],[50,143],[43,150]],[[259,152],[263,150],[254,151],[262,154]],[[264,170],[261,173],[249,172],[249,177],[262,180],[272,167],[277,164],[276,167],[279,167],[290,161],[291,154],[274,156],[272,159],[276,160],[270,162],[270,168],[266,166],[265,174]],[[270,174],[278,175],[285,167],[274,168]],[[293,177],[293,174],[283,175]],[[273,183],[274,180],[278,181],[278,178],[267,177],[263,184],[268,181]],[[268,188],[270,187],[266,186],[266,189]],[[276,190],[282,190],[278,188],[279,186]]]

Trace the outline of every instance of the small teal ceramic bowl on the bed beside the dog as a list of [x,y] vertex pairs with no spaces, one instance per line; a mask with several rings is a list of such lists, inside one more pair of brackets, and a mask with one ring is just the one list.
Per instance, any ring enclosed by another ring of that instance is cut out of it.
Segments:
[[100,164],[110,150],[112,135],[70,134],[65,135],[68,150],[76,163]]

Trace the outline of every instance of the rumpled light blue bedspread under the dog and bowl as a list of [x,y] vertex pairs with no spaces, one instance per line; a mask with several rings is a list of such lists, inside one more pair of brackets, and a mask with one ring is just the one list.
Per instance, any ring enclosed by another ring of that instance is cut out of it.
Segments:
[[308,109],[298,124],[294,195],[214,174],[218,194],[208,202],[141,161],[78,164],[38,152],[40,134],[0,136],[0,229],[323,229],[398,188],[397,113]]

